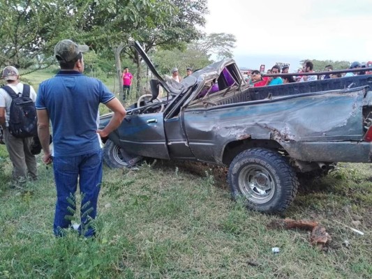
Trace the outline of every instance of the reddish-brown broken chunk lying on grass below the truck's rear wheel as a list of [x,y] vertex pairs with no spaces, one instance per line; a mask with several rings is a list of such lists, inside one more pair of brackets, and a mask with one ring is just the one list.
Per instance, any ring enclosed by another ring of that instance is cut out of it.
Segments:
[[[331,241],[331,236],[325,231],[325,227],[320,227],[318,222],[308,220],[275,219],[271,220],[270,229],[304,229],[311,231],[310,242],[313,246],[322,249],[325,244]],[[274,251],[273,251],[274,252]]]

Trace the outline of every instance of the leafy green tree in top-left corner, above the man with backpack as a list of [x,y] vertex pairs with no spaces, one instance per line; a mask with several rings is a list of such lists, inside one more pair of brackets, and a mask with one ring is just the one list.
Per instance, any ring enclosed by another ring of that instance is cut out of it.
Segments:
[[[66,7],[59,1],[6,0],[0,5],[0,66],[12,64],[43,68],[45,50],[68,29],[70,22],[60,15]],[[47,61],[46,66],[50,64]]]

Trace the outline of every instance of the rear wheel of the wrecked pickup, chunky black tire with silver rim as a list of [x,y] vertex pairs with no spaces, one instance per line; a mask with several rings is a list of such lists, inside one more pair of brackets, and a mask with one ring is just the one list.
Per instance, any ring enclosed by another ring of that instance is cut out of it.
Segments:
[[297,176],[287,160],[268,149],[248,149],[230,164],[228,183],[234,199],[246,199],[248,209],[281,213],[297,194]]

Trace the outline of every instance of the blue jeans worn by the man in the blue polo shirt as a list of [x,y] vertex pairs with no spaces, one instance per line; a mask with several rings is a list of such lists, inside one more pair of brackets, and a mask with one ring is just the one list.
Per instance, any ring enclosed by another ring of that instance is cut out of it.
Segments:
[[75,193],[79,177],[80,234],[94,236],[91,220],[97,215],[97,200],[102,181],[102,149],[79,156],[53,158],[54,180],[57,188],[56,211],[53,232],[63,236],[63,229],[70,227],[76,211]]

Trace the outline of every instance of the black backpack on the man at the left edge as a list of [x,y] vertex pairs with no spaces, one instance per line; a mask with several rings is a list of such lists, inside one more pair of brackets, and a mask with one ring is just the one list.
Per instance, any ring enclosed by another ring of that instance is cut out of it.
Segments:
[[22,93],[15,93],[10,86],[3,86],[10,97],[9,133],[13,137],[34,137],[38,135],[38,119],[36,116],[35,103],[30,98],[30,86],[23,85]]

